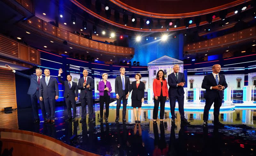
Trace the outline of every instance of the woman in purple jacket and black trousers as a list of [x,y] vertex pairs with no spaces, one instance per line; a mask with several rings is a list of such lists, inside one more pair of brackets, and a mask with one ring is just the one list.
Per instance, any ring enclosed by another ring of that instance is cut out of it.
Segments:
[[106,119],[105,122],[108,122],[108,114],[109,114],[109,101],[110,101],[110,92],[112,91],[111,84],[108,79],[108,74],[104,73],[102,74],[103,80],[99,82],[99,95],[100,95],[100,120],[99,122],[103,122],[103,109],[104,109],[104,103],[106,108]]

